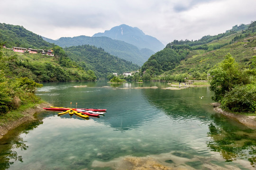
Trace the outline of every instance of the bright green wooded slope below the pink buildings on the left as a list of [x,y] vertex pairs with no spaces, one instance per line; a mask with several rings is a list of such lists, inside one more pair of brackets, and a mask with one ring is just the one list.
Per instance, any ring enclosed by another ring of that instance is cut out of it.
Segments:
[[93,81],[96,76],[90,69],[84,70],[68,57],[52,57],[42,54],[19,54],[3,49],[2,69],[8,76],[28,77],[37,82]]

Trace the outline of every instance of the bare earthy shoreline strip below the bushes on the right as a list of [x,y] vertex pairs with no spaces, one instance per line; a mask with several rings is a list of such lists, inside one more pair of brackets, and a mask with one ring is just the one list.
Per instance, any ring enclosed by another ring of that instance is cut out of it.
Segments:
[[256,128],[256,116],[247,116],[247,115],[241,115],[241,114],[235,114],[228,111],[222,110],[219,106],[219,103],[211,103],[214,107],[214,110],[218,113],[225,115],[229,118],[237,119],[240,123],[243,125],[246,125],[247,127]]

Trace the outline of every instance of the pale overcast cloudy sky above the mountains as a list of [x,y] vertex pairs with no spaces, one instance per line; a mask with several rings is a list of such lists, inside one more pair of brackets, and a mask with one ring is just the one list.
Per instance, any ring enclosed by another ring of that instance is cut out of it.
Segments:
[[47,38],[73,37],[126,24],[164,44],[198,40],[256,20],[256,0],[1,0],[0,23]]

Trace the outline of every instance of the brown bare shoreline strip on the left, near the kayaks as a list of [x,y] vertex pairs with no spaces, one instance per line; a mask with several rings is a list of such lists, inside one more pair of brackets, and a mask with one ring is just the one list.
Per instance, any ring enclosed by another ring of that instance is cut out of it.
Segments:
[[40,111],[43,111],[44,107],[50,107],[51,104],[47,102],[42,102],[40,104],[35,105],[33,108],[26,109],[22,111],[23,117],[14,121],[9,121],[5,123],[4,125],[0,126],[0,138],[2,138],[5,134],[8,133],[9,130],[14,129],[15,127],[18,127],[19,125],[35,120],[34,114],[38,113]]

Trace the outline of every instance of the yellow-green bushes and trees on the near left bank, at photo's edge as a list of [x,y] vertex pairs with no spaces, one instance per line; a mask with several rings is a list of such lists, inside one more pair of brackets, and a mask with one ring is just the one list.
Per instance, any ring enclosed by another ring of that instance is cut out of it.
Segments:
[[14,66],[17,59],[17,56],[8,58],[6,53],[0,53],[0,115],[17,109],[20,105],[39,101],[34,93],[42,85],[27,77],[18,77],[12,72],[14,69],[9,68],[8,65],[13,63],[11,66]]

